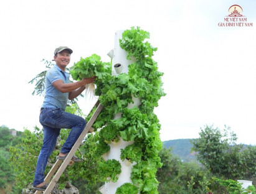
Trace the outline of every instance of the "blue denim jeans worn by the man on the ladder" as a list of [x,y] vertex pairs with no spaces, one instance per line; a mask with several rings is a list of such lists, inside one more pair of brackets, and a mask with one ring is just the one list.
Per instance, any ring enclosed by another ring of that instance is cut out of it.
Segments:
[[60,152],[66,154],[72,149],[73,144],[75,144],[87,123],[82,117],[62,111],[60,108],[43,108],[39,121],[43,126],[44,141],[37,159],[34,186],[44,182],[46,164],[55,148],[60,129],[71,129],[60,150]]

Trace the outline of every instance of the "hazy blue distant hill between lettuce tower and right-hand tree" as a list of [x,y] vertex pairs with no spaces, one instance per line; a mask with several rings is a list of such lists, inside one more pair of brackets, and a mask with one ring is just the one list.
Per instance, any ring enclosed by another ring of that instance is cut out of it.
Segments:
[[192,139],[174,139],[169,141],[164,141],[163,146],[166,148],[172,147],[172,153],[178,155],[183,162],[189,162],[196,160],[195,153],[191,153]]

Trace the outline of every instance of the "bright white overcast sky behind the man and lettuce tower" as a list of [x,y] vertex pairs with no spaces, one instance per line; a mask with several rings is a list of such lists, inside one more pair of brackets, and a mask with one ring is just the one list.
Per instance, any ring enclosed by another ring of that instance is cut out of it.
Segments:
[[[225,26],[234,4],[252,26]],[[45,70],[41,60],[51,61],[55,48],[73,50],[69,67],[93,53],[110,62],[115,32],[140,26],[158,47],[153,59],[164,73],[166,96],[154,109],[161,140],[198,138],[213,125],[229,126],[238,143],[255,145],[255,6],[254,0],[2,1],[0,126],[42,127],[43,97],[32,96],[28,82]],[[94,101],[78,103],[87,113]]]

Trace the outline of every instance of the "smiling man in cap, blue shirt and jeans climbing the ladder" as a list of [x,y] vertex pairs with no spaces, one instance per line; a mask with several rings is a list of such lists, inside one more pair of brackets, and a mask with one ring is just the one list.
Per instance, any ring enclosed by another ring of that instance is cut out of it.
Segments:
[[[92,77],[70,83],[69,74],[65,72],[65,68],[69,65],[72,52],[69,47],[55,49],[54,60],[56,64],[46,73],[45,98],[39,116],[40,124],[43,126],[44,141],[37,159],[33,182],[33,188],[36,190],[43,191],[47,188],[44,182],[44,172],[47,160],[56,145],[60,129],[71,129],[59,154],[59,159],[64,160],[87,123],[82,117],[65,112],[67,100],[76,98],[85,90],[86,84],[95,81],[95,77]],[[74,162],[82,161],[75,156],[72,157],[72,160]]]

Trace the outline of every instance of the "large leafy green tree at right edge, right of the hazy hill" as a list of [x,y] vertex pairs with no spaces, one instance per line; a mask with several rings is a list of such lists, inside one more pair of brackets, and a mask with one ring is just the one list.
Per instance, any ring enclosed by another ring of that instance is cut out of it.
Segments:
[[192,150],[213,175],[233,180],[255,177],[255,146],[236,144],[237,136],[229,127],[220,131],[219,128],[206,126],[199,136],[192,141]]

